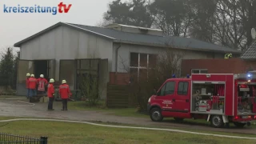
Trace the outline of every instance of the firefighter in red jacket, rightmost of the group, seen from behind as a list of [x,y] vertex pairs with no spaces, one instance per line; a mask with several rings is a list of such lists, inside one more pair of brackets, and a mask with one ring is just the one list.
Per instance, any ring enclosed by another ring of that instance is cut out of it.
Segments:
[[70,86],[66,84],[66,80],[62,80],[62,85],[58,87],[58,92],[62,98],[62,110],[67,110],[67,101],[72,94],[70,93]]

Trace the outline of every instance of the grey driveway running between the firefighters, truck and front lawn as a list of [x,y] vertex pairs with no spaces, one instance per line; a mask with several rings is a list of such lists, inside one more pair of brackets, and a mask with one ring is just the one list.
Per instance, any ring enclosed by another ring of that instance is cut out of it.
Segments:
[[[6,106],[10,105],[10,106]],[[98,111],[78,111],[78,110],[61,110],[61,102],[54,102],[54,111],[47,111],[47,103],[36,103],[31,107],[11,107],[11,106],[27,106],[26,104],[18,103],[17,100],[1,100],[0,116],[10,117],[30,117],[30,118],[58,118],[66,120],[77,120],[87,122],[116,122],[122,124],[132,124],[139,126],[158,126],[170,129],[186,129],[186,130],[206,130],[206,131],[222,131],[239,134],[256,134],[256,129],[245,127],[237,129],[216,129],[210,126],[195,125],[193,123],[175,123],[170,121],[152,122],[150,118],[130,118],[120,117],[105,112]]]

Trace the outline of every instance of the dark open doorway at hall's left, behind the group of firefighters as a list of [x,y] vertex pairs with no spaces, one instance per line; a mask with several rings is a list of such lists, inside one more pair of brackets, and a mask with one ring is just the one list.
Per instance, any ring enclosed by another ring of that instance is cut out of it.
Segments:
[[39,78],[40,74],[44,75],[49,81],[49,61],[47,60],[37,60],[34,61],[34,77]]

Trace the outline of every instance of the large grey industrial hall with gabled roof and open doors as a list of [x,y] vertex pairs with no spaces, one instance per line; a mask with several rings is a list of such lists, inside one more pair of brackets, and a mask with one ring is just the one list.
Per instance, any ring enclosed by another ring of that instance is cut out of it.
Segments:
[[[147,69],[156,55],[171,42],[171,48],[186,51],[184,59],[223,58],[240,52],[193,38],[166,37],[162,30],[110,24],[106,27],[58,22],[46,30],[14,44],[20,47],[17,94],[26,95],[26,73],[44,74],[56,82],[66,79],[71,90],[78,90],[79,74],[93,71],[99,89],[104,91],[110,73],[127,73],[125,67]],[[145,61],[146,66],[140,62]]]

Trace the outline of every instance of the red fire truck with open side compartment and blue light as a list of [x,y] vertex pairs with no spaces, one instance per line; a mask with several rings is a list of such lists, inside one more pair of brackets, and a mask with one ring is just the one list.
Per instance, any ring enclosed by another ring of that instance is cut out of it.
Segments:
[[256,74],[192,74],[170,78],[148,100],[154,122],[206,119],[211,126],[250,126],[256,120]]

